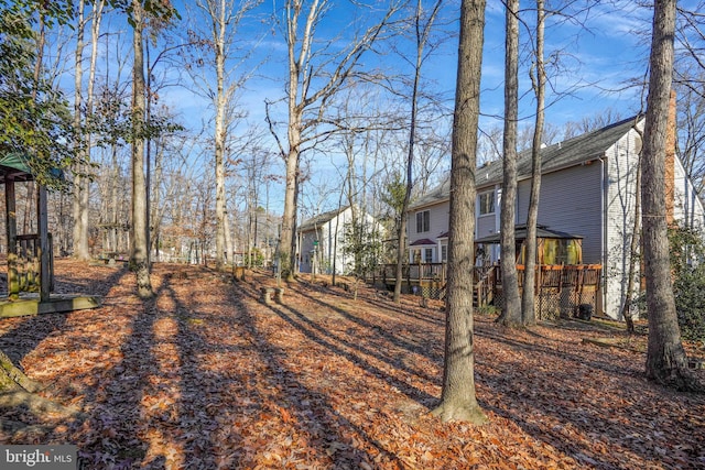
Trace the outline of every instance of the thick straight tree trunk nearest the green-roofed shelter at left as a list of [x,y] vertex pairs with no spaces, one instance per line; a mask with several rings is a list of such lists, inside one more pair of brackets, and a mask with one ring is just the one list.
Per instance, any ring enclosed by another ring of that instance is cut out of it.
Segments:
[[132,0],[134,21],[132,45],[132,250],[130,266],[137,275],[137,293],[142,298],[154,295],[150,280],[149,247],[147,236],[147,183],[144,178],[144,57],[142,30],[143,10],[140,0]]

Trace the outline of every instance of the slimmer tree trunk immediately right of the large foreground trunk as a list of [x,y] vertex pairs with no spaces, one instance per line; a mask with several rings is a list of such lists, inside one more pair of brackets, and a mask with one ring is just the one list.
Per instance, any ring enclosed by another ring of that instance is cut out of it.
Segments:
[[506,8],[507,42],[505,45],[505,140],[503,177],[500,212],[500,269],[502,273],[502,325],[522,324],[521,296],[517,274],[517,122],[519,117],[519,0],[508,0]]

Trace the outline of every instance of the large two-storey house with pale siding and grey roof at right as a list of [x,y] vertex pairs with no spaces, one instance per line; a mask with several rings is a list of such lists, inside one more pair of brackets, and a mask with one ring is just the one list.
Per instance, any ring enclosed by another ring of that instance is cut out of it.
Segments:
[[[643,119],[630,118],[594,132],[541,149],[542,179],[539,223],[583,237],[583,263],[603,265],[603,297],[597,311],[619,318],[625,302],[629,247],[633,231],[638,155]],[[670,127],[675,142],[675,128]],[[703,204],[675,155],[666,153],[666,195],[670,221],[702,228]],[[502,162],[477,168],[476,239],[500,228]],[[516,223],[525,223],[531,187],[531,152],[518,157]],[[413,262],[446,261],[449,182],[415,201],[406,227]],[[490,261],[497,244],[486,247]],[[637,277],[638,278],[638,277]]]

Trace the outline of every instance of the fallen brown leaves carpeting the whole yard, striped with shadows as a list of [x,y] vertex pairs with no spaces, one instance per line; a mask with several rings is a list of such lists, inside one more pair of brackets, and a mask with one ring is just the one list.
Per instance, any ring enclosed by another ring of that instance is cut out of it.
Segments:
[[490,424],[430,416],[444,315],[417,297],[359,299],[304,278],[284,305],[199,266],[156,264],[156,297],[122,269],[58,261],[95,310],[0,320],[0,348],[87,418],[22,409],[4,444],[75,444],[89,469],[705,468],[705,397],[647,382],[643,352],[584,343],[565,323],[503,330],[476,318],[477,395]]

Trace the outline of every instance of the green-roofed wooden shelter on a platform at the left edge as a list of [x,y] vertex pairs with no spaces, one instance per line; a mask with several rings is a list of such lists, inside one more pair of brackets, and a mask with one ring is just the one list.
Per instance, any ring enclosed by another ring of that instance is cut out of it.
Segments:
[[[58,171],[55,176],[61,177]],[[8,295],[7,299],[0,299],[0,317],[98,307],[99,299],[93,296],[52,294],[54,260],[45,186],[37,185],[36,233],[18,233],[15,183],[34,179],[24,155],[10,153],[0,157],[8,242]]]

